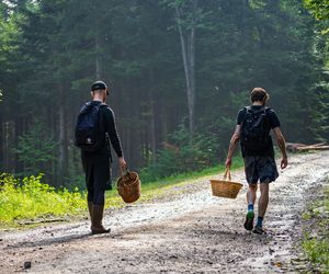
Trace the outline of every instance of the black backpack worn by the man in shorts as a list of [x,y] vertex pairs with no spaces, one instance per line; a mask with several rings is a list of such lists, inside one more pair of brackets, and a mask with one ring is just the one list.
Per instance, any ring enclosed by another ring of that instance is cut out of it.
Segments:
[[254,110],[246,106],[246,115],[241,125],[241,145],[246,150],[263,151],[271,144],[268,107]]

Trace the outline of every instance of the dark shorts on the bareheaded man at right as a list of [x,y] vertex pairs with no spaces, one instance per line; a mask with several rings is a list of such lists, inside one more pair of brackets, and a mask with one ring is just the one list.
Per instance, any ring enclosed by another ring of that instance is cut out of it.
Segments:
[[247,156],[245,160],[246,179],[249,184],[271,183],[279,176],[275,160],[272,157]]

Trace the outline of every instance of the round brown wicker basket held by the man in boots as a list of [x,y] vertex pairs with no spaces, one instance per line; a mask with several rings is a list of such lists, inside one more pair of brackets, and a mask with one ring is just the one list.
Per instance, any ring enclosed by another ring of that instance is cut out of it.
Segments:
[[118,195],[125,203],[134,203],[140,197],[140,180],[136,172],[125,170],[116,184]]

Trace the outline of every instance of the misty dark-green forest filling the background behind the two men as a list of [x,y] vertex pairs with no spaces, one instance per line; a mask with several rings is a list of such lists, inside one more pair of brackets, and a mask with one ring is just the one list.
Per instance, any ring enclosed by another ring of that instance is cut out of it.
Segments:
[[0,171],[83,184],[73,132],[95,80],[110,85],[125,158],[144,181],[223,162],[254,87],[269,91],[288,141],[328,142],[326,4],[1,0]]

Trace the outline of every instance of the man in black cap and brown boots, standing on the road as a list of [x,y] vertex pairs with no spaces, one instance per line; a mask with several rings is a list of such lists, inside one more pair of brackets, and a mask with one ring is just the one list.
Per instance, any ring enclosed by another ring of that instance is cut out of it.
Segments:
[[[105,104],[106,95],[109,95],[107,85],[103,81],[94,82],[91,85],[92,101],[88,102],[82,107],[79,114],[80,117],[83,111],[84,113],[87,113],[89,109],[92,110],[97,113],[98,125],[99,128],[101,128],[100,130],[98,130],[99,136],[97,136],[97,139],[99,144],[97,149],[88,149],[88,144],[86,144],[84,147],[78,145],[81,148],[82,165],[86,172],[88,209],[91,219],[91,231],[93,235],[110,232],[110,229],[105,229],[102,225],[106,184],[111,187],[110,164],[112,161],[112,157],[110,142],[118,157],[120,167],[122,169],[126,167],[126,162],[123,157],[121,140],[116,130],[114,113]],[[77,128],[79,126],[79,117]],[[92,138],[88,138],[88,141],[92,142],[92,140],[90,139]]]

